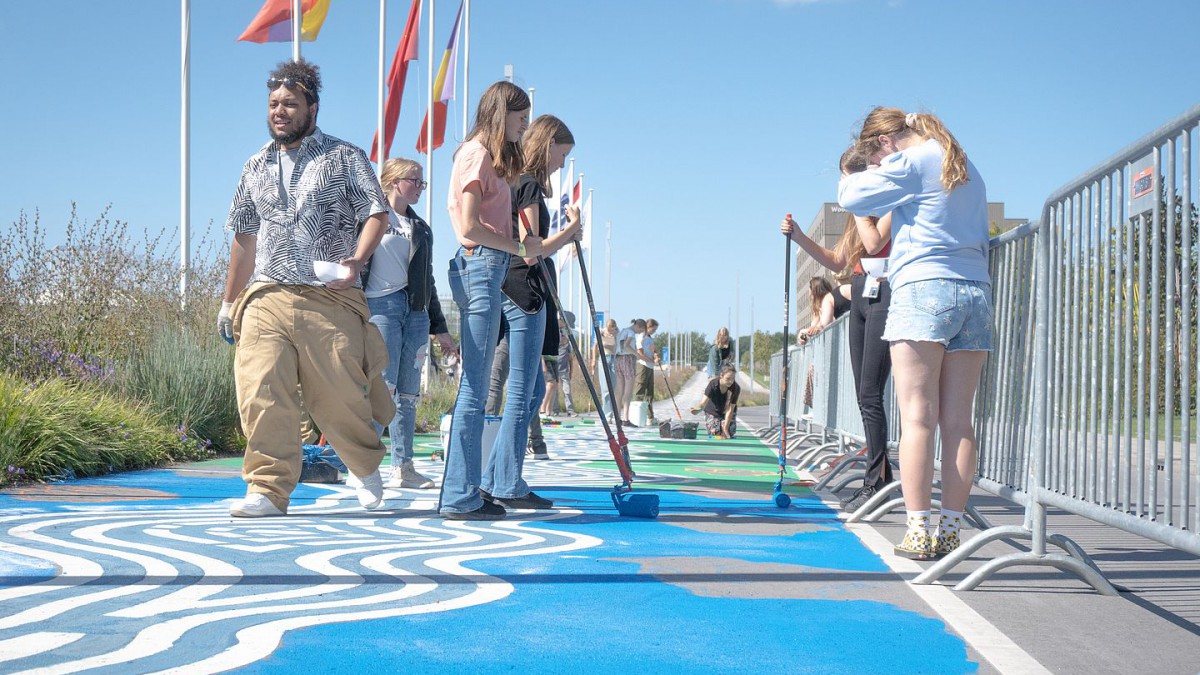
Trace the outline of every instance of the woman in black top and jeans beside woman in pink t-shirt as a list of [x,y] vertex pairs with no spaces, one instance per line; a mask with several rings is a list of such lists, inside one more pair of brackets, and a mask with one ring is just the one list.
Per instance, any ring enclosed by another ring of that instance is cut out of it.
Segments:
[[[521,180],[512,191],[512,217],[516,221],[512,232],[515,237],[521,237],[527,227],[536,227],[536,235],[545,237],[541,251],[547,262],[554,251],[583,234],[580,210],[569,207],[566,225],[551,235],[550,214],[542,201],[550,191],[551,172],[563,167],[574,147],[575,137],[570,130],[552,115],[535,119],[521,139],[524,166]],[[550,500],[535,495],[521,477],[529,438],[529,416],[535,413],[546,388],[541,354],[550,333],[547,317],[557,311],[548,299],[546,285],[551,282],[542,276],[538,258],[514,256],[500,287],[502,311],[509,325],[509,381],[504,416],[480,489],[485,500],[505,508],[553,506]],[[557,322],[553,333],[557,350]]]

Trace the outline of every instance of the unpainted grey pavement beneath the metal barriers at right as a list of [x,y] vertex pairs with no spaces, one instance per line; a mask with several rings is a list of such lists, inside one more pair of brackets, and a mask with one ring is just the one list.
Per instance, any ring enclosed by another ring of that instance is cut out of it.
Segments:
[[[742,408],[738,417],[750,429],[768,422],[764,406]],[[836,503],[854,486],[822,496]],[[1020,506],[989,492],[974,490],[971,503],[995,525],[1021,524]],[[904,534],[904,512],[864,525],[894,544]],[[1105,597],[1051,567],[1012,567],[974,591],[952,592],[1051,673],[1200,671],[1200,558],[1061,510],[1050,510],[1049,526],[1080,544],[1110,581],[1127,590]],[[965,538],[976,532],[968,530]],[[952,587],[989,560],[1030,550],[1027,544],[990,543],[941,584]]]

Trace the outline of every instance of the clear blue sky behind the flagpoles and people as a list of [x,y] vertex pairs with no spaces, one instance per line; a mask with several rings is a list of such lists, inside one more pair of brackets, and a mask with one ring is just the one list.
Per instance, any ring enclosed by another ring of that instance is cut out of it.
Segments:
[[[134,231],[179,227],[180,7],[173,0],[0,1],[0,217],[70,203]],[[263,84],[290,44],[235,42],[260,0],[192,2],[192,227],[222,231],[242,162],[266,139]],[[389,0],[388,58],[408,0]],[[440,56],[457,2],[439,0]],[[832,201],[835,163],[875,104],[938,114],[1009,217],[1198,102],[1200,2],[1164,0],[475,0],[472,90],[514,64],[535,112],[564,119],[612,223],[612,310],[712,335],[740,275],[740,327],[778,330],[782,238]],[[320,37],[319,124],[370,148],[378,2],[332,0]],[[424,29],[422,29],[424,30]],[[392,155],[414,150],[426,88],[409,72]],[[460,103],[461,104],[461,103]],[[461,108],[460,108],[461,109]],[[431,190],[439,288],[454,235],[450,154]],[[424,204],[418,207],[424,213]],[[210,226],[211,221],[211,226]],[[794,321],[793,321],[794,324]],[[732,328],[732,327],[731,327]]]

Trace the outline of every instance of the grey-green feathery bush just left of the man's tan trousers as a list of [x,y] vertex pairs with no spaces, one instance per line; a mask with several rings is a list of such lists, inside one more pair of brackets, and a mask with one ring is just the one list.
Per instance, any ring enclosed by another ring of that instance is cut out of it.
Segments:
[[216,336],[160,325],[145,346],[114,368],[112,386],[143,401],[193,437],[240,449],[234,350]]

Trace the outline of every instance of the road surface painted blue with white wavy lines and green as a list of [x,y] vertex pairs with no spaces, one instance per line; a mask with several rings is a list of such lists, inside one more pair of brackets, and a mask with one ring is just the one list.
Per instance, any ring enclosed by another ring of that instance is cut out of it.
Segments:
[[772,448],[656,436],[630,430],[656,520],[617,514],[583,422],[526,462],[558,508],[498,522],[438,518],[437,490],[365,512],[307,484],[286,518],[233,519],[239,459],[0,492],[0,673],[980,669],[808,489],[774,506]]

